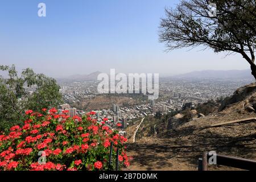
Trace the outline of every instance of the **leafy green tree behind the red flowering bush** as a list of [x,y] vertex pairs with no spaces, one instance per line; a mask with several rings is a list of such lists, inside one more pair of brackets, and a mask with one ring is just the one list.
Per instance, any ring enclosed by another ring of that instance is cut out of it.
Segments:
[[62,103],[60,87],[53,78],[30,68],[19,76],[14,65],[0,65],[0,71],[8,73],[7,78],[0,76],[0,131],[19,124],[25,110],[41,111]]

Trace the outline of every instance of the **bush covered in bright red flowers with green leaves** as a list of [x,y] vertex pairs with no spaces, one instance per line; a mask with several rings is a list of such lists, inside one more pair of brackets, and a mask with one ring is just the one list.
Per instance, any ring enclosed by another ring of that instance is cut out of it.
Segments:
[[[23,126],[13,126],[9,135],[0,135],[0,170],[109,170],[110,145],[113,156],[119,148],[119,168],[129,166],[125,137],[103,122],[96,113],[73,118],[55,108],[42,113],[26,111]],[[46,161],[41,160],[46,159]],[[115,164],[115,158],[112,158]]]

